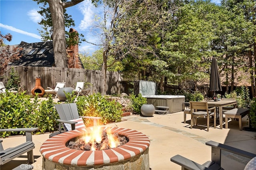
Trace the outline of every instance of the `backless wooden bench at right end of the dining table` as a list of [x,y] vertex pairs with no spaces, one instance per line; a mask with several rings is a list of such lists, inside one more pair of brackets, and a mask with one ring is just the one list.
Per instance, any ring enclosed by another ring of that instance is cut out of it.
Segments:
[[242,118],[248,115],[250,109],[247,108],[235,108],[224,112],[225,114],[225,128],[228,128],[228,118],[238,119],[239,130],[242,130]]

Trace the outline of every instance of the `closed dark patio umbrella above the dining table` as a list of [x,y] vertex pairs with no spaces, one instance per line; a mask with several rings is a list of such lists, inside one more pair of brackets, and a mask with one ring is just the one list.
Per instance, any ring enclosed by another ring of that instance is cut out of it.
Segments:
[[210,75],[210,91],[222,91],[220,83],[220,74],[218,71],[218,65],[215,57],[212,57],[211,75]]

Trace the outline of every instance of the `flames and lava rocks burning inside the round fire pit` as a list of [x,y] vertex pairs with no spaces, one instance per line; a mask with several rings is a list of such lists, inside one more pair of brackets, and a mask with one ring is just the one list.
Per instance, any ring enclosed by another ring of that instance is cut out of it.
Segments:
[[120,137],[118,133],[112,134],[110,131],[100,131],[100,128],[94,128],[92,133],[86,134],[76,142],[70,141],[68,148],[76,150],[104,150],[116,148],[126,143],[125,136]]

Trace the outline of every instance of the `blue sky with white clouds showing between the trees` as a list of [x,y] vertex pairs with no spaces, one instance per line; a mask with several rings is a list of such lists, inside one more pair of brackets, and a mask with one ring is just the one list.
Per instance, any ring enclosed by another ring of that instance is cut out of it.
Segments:
[[[219,4],[220,0],[212,0]],[[1,34],[12,34],[12,41],[5,41],[8,45],[17,45],[21,41],[27,43],[41,42],[38,29],[42,27],[40,14],[37,13],[39,5],[32,0],[0,0],[0,31]],[[72,16],[76,26],[74,29],[83,34],[88,42],[100,43],[95,32],[91,32],[94,15],[100,15],[100,7],[95,8],[91,0],[84,0],[75,6],[66,8],[67,13]],[[68,30],[67,30],[68,31]],[[79,45],[80,53],[92,54],[98,46],[82,42]]]

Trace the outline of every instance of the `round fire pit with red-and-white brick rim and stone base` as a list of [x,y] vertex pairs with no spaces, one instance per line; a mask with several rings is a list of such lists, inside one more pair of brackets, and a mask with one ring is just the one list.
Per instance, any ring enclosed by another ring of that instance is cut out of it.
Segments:
[[117,127],[101,127],[103,130],[117,132],[125,136],[128,142],[122,146],[106,150],[74,150],[67,147],[68,142],[85,133],[92,132],[93,127],[71,130],[46,140],[40,152],[43,156],[42,168],[53,169],[149,169],[149,138],[136,130]]

